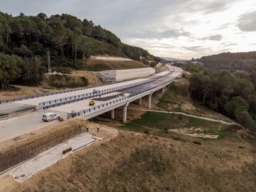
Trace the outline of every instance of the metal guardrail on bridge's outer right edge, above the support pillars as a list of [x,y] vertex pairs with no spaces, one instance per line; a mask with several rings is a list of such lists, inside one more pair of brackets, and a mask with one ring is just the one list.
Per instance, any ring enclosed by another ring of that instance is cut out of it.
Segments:
[[[172,81],[173,81],[173,80],[166,81],[165,83],[162,83],[161,85],[164,85],[164,84],[166,84],[166,83],[171,83]],[[68,113],[67,119],[69,119],[70,117],[74,118],[74,117],[77,116],[77,115],[82,115],[82,114],[85,114],[85,113],[87,113],[87,112],[95,111],[96,109],[101,109],[101,107],[109,106],[109,105],[111,105],[111,104],[115,104],[115,103],[117,103],[117,102],[124,101],[124,100],[126,100],[126,99],[129,99],[129,98],[132,98],[132,97],[134,97],[134,96],[137,96],[138,94],[142,94],[142,93],[145,93],[145,92],[147,92],[147,91],[153,90],[153,89],[155,89],[155,88],[157,88],[158,86],[161,86],[161,85],[156,85],[156,86],[153,86],[152,88],[149,88],[149,89],[147,89],[147,90],[140,91],[140,92],[138,92],[138,93],[134,93],[134,94],[131,94],[131,95],[129,95],[129,96],[124,96],[124,97],[122,97],[122,98],[115,99],[115,100],[113,100],[113,101],[105,102],[105,103],[100,104],[100,105],[98,105],[98,106],[90,107],[90,108],[88,108],[88,109],[84,109],[84,110],[82,110],[82,111],[78,111],[78,112],[75,112],[75,113],[73,113],[73,114],[69,114],[69,113]]]

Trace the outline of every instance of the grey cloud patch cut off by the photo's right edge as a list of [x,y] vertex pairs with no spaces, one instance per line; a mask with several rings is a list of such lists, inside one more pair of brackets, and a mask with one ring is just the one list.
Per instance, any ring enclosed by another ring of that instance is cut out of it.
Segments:
[[237,27],[241,31],[256,31],[256,10],[240,15]]

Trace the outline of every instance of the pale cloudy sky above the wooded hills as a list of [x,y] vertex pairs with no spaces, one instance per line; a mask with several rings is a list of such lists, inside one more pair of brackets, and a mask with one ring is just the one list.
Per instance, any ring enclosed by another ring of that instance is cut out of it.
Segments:
[[179,59],[256,51],[255,0],[0,0],[12,15],[72,14],[122,42]]

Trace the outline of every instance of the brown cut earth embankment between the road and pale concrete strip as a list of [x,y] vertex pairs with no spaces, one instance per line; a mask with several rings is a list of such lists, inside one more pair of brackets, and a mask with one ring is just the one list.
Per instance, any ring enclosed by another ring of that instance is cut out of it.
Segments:
[[[83,128],[79,128],[79,123],[82,123]],[[92,123],[84,120],[63,122],[22,135],[22,139],[18,141],[2,142],[0,144],[0,172],[52,148],[56,144],[80,135],[85,131],[84,127],[87,123],[93,127]]]

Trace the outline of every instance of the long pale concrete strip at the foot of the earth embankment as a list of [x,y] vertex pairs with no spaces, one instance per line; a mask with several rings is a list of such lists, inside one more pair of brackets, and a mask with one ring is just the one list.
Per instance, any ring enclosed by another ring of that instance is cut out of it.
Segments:
[[[65,143],[59,144],[54,148],[48,149],[47,151],[38,154],[38,156],[31,159],[30,161],[24,162],[15,169],[11,170],[10,175],[16,182],[21,183],[36,172],[46,169],[61,159],[64,159],[72,152],[77,151],[96,140],[97,138],[92,138],[90,134],[83,133],[69,141],[66,141]],[[72,148],[72,151],[67,152],[66,154],[62,154],[62,151],[68,148]]]

